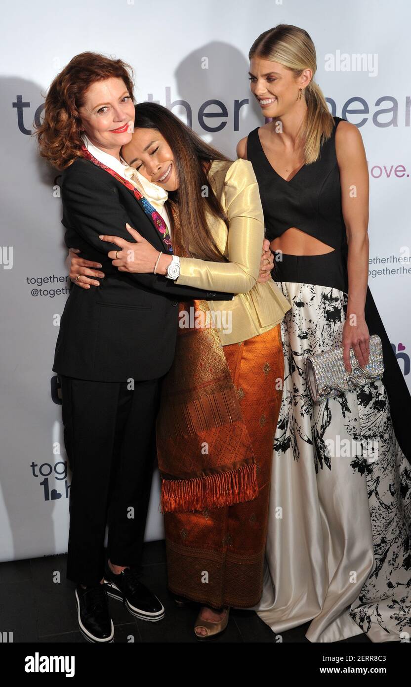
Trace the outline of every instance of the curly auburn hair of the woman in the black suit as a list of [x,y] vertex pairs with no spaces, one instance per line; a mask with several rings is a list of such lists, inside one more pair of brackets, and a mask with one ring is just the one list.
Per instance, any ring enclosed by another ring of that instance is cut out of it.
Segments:
[[79,108],[84,93],[96,81],[123,79],[134,102],[132,67],[95,52],[75,55],[51,83],[45,98],[43,122],[34,124],[41,157],[58,169],[69,167],[81,157],[81,119]]

